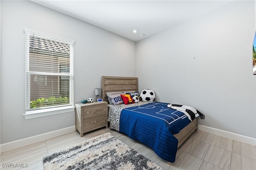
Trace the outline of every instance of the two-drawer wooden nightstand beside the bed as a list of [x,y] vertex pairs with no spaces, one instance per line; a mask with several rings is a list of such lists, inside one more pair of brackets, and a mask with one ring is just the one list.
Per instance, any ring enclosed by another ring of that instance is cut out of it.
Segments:
[[108,128],[108,102],[76,103],[76,130],[81,137],[104,126]]

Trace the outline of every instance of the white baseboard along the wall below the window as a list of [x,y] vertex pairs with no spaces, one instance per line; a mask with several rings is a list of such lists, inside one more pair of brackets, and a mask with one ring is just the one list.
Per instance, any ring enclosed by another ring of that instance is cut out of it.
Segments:
[[72,126],[72,127],[62,128],[62,129],[59,129],[59,130],[54,130],[52,132],[39,134],[39,135],[36,135],[36,136],[31,136],[31,137],[28,137],[28,138],[15,140],[15,141],[12,141],[12,142],[7,142],[7,143],[4,143],[4,144],[0,145],[0,150],[1,150],[1,152],[4,152],[6,150],[12,150],[12,149],[15,149],[15,148],[19,148],[21,146],[25,146],[25,145],[32,144],[32,143],[35,143],[35,142],[40,142],[42,140],[46,140],[46,139],[49,139],[49,138],[53,138],[53,137],[60,136],[62,134],[66,134],[66,133],[69,133],[69,132],[74,132],[74,131],[75,131],[75,126]]

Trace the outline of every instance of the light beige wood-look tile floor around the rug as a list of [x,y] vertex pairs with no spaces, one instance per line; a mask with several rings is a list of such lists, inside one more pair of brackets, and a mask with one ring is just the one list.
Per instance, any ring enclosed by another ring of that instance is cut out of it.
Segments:
[[100,128],[85,133],[83,137],[80,137],[78,132],[71,132],[1,152],[0,169],[19,169],[4,167],[7,163],[14,165],[19,163],[27,166],[20,169],[42,170],[44,156],[106,132],[110,132],[165,170],[256,170],[256,146],[254,145],[198,130],[178,148],[176,161],[170,163],[157,156],[148,146],[110,128]]

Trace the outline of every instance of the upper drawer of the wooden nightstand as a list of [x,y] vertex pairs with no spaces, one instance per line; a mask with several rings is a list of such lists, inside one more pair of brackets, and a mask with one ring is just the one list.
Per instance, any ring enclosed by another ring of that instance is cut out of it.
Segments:
[[88,119],[90,117],[96,117],[100,115],[106,115],[106,105],[89,106],[83,108],[83,117]]

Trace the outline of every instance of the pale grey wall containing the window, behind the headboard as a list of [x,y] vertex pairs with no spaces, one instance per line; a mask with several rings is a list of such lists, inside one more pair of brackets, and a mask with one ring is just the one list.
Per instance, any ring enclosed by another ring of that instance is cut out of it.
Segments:
[[30,1],[1,1],[1,144],[75,125],[74,112],[25,120],[24,28],[74,44],[74,101],[94,96],[101,76],[136,76],[136,43]]

